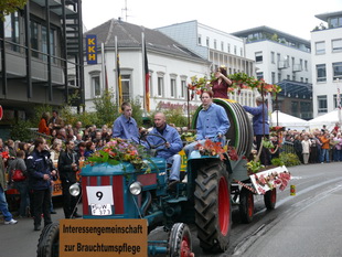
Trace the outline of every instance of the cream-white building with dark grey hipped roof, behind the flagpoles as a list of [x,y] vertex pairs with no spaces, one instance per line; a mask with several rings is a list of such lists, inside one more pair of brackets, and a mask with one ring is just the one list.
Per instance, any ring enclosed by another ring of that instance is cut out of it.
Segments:
[[[186,110],[186,85],[192,76],[209,75],[210,62],[189,51],[163,33],[120,20],[109,20],[88,31],[97,35],[97,58],[95,65],[85,65],[86,109],[94,110],[93,100],[105,89],[107,71],[108,89],[117,96],[117,69],[115,38],[117,38],[122,78],[124,100],[140,98],[143,103],[145,73],[142,62],[142,36],[145,33],[148,66],[150,72],[150,108],[158,105],[163,108],[182,107]],[[100,44],[104,44],[105,65],[103,65]],[[191,101],[191,107],[200,105],[199,97]],[[185,113],[185,111],[184,111]]]

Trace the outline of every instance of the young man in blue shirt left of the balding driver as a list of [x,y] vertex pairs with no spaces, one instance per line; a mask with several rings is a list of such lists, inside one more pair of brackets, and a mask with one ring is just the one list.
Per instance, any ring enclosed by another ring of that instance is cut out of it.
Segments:
[[122,115],[113,124],[113,138],[129,139],[139,142],[139,131],[137,121],[131,117],[132,108],[127,101],[121,105]]

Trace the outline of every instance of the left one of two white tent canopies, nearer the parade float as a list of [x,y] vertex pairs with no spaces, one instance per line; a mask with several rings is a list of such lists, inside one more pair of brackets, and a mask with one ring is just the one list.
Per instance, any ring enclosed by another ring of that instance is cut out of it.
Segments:
[[296,130],[309,129],[309,124],[307,120],[284,114],[280,110],[275,110],[271,114],[270,126],[271,127],[280,126],[286,127],[287,129],[296,129]]

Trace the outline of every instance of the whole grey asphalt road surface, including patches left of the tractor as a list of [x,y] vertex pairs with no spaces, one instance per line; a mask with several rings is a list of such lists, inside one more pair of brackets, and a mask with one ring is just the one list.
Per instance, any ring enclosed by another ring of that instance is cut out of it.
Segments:
[[[255,197],[255,218],[243,224],[233,213],[231,243],[224,254],[205,254],[199,247],[195,228],[195,256],[342,256],[342,163],[309,164],[288,168],[296,185],[296,196],[289,186],[278,191],[274,211],[265,210],[263,197]],[[58,203],[56,203],[58,205]],[[82,208],[81,208],[82,210]],[[57,206],[54,222],[63,218]],[[152,232],[163,238],[161,228]],[[21,218],[15,225],[0,225],[0,257],[36,256],[40,232],[33,231],[32,218]]]

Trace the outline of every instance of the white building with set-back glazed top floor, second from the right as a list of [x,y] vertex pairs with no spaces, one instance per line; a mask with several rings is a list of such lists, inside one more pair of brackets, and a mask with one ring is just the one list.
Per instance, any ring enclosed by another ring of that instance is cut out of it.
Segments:
[[282,79],[311,83],[309,41],[268,26],[233,34],[246,39],[246,57],[255,60],[258,78],[270,84]]

